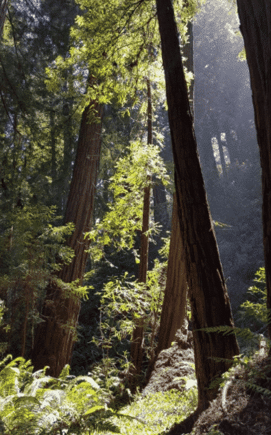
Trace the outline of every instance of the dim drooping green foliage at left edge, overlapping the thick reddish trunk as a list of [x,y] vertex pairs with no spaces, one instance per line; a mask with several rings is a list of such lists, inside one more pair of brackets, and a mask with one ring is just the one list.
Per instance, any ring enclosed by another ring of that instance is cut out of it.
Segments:
[[[7,226],[0,234],[0,258],[3,259],[0,295],[7,306],[1,329],[8,329],[8,344],[14,354],[22,354],[30,348],[35,327],[42,321],[40,307],[46,286],[50,279],[56,279],[54,273],[61,264],[69,264],[74,256],[73,250],[64,244],[74,225],[53,226],[51,222],[60,218],[55,216],[55,209],[54,206],[25,205],[0,219],[3,226]],[[56,280],[67,297],[87,297],[87,286]],[[23,337],[22,323],[25,325]]]

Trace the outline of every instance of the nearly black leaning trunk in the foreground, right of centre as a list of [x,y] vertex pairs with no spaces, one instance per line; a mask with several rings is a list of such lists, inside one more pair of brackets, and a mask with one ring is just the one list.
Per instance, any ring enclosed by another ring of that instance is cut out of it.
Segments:
[[213,357],[232,359],[239,354],[239,347],[235,335],[222,336],[199,330],[208,326],[233,327],[233,317],[200,169],[174,8],[171,0],[156,0],[156,7],[175,164],[178,217],[193,322],[197,412],[200,412],[217,396],[218,389],[207,390],[213,377],[231,366],[226,361],[216,362]]

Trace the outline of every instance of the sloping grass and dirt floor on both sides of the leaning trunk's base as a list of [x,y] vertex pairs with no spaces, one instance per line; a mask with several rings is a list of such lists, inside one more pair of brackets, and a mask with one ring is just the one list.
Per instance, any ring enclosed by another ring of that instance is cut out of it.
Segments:
[[191,335],[187,343],[183,338],[180,334],[174,346],[159,354],[148,385],[136,401],[119,410],[141,420],[123,421],[121,434],[271,435],[271,360],[265,341],[249,361],[235,367],[210,407],[191,418],[196,377]]

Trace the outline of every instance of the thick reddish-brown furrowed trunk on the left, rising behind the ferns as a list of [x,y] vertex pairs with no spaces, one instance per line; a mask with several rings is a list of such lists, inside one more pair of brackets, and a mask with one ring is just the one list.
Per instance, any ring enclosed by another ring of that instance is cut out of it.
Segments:
[[[79,279],[81,285],[89,243],[84,233],[89,231],[99,168],[102,134],[102,105],[92,102],[82,114],[78,149],[73,177],[67,200],[64,223],[73,222],[75,231],[67,240],[67,246],[74,249],[75,256],[70,264],[62,267],[57,277],[70,283]],[[80,299],[64,297],[63,290],[54,277],[47,286],[43,307],[43,323],[36,330],[32,363],[35,370],[49,365],[49,374],[58,376],[65,364],[69,363],[75,337],[75,328],[80,312]]]

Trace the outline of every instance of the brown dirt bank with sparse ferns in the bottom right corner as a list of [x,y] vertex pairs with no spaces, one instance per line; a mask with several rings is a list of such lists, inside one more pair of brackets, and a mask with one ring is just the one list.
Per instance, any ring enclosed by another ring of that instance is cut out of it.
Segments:
[[[217,399],[198,416],[190,434],[271,435],[270,363],[267,352],[259,352],[246,367],[237,366]],[[164,435],[187,433],[184,423]]]

